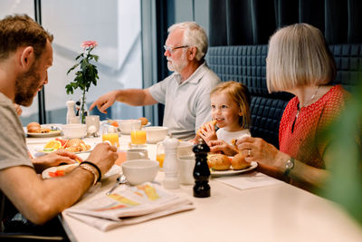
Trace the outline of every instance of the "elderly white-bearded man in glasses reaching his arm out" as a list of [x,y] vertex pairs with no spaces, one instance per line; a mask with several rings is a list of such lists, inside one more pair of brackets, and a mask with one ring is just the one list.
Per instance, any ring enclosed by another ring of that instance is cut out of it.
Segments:
[[207,36],[195,22],[173,24],[168,28],[165,56],[172,73],[147,89],[126,89],[107,92],[93,102],[107,113],[116,101],[132,106],[165,104],[163,126],[177,139],[195,137],[195,131],[211,120],[210,92],[220,82],[205,63]]

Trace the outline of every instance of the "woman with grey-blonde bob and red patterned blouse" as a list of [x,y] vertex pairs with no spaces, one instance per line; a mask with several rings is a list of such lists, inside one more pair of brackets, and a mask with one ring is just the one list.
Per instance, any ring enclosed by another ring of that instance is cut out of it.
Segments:
[[336,64],[329,47],[319,29],[293,24],[271,36],[266,67],[269,92],[295,95],[281,118],[280,150],[258,138],[238,140],[238,149],[247,161],[258,161],[262,172],[303,189],[320,187],[329,176],[329,140],[319,134],[336,119],[348,97],[342,86],[330,84]]

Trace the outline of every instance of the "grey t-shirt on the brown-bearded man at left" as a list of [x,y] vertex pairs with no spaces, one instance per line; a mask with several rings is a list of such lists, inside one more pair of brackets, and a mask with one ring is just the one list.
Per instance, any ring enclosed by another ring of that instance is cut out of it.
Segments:
[[0,169],[14,166],[33,167],[29,158],[23,126],[13,102],[0,92]]

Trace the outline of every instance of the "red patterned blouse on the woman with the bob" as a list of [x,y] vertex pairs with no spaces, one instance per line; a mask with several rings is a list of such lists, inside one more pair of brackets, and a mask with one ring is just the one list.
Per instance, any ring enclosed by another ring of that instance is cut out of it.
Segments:
[[307,165],[325,169],[323,154],[329,140],[320,137],[319,133],[338,117],[347,98],[348,92],[341,85],[336,85],[317,102],[302,107],[298,118],[300,102],[298,97],[292,98],[281,117],[280,150]]

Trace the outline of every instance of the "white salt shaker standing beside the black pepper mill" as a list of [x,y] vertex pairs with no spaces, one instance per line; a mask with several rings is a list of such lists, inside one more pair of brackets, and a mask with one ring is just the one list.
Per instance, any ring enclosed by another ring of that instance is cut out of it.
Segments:
[[179,141],[175,138],[168,138],[162,143],[165,147],[166,154],[164,161],[165,179],[163,181],[163,186],[165,189],[178,189],[180,187],[177,164],[177,147]]

